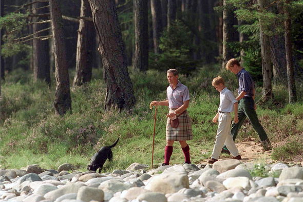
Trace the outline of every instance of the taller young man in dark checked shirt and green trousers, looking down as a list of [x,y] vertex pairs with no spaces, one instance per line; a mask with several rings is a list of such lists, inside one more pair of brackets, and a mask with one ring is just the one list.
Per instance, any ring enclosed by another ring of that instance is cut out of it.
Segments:
[[[266,132],[261,126],[257,113],[256,113],[256,104],[255,104],[255,85],[252,79],[252,76],[248,71],[240,66],[240,63],[237,59],[232,58],[226,63],[225,68],[230,70],[234,74],[237,74],[239,79],[239,89],[238,96],[236,100],[239,101],[238,106],[238,123],[232,124],[231,133],[233,135],[233,139],[235,140],[238,134],[238,131],[246,117],[250,119],[250,122],[253,125],[253,128],[258,133],[261,139],[261,145],[264,151],[271,150],[271,143],[268,139]],[[226,146],[222,149],[223,153],[230,153]]]

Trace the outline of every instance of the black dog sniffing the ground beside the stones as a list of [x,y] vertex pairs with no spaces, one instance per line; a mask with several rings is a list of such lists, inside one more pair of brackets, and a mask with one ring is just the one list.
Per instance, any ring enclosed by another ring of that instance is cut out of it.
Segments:
[[90,164],[87,166],[87,170],[96,172],[97,169],[99,168],[99,173],[100,173],[106,159],[108,158],[109,161],[112,160],[112,152],[110,148],[115,147],[118,141],[119,138],[116,140],[116,142],[113,145],[102,147],[96,154],[94,154],[91,157]]

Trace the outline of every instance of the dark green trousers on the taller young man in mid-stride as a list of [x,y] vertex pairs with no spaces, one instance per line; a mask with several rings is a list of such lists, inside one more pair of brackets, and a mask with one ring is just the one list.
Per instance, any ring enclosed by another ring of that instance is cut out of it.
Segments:
[[[233,123],[231,129],[231,133],[233,135],[234,141],[246,117],[250,119],[250,122],[252,123],[255,131],[258,133],[261,141],[268,139],[266,132],[264,131],[263,127],[259,122],[257,113],[254,109],[254,105],[255,105],[255,101],[252,97],[243,97],[242,99],[239,100],[239,105],[238,105],[239,122],[237,124]],[[225,145],[223,146],[223,149],[228,150]]]

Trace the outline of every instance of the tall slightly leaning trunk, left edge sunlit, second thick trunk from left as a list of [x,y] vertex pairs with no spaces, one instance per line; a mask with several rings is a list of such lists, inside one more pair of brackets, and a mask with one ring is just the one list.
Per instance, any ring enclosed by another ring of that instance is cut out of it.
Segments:
[[57,0],[49,0],[49,5],[51,30],[54,42],[55,76],[57,83],[54,107],[56,113],[63,115],[67,111],[71,111],[71,98],[65,54],[62,14]]

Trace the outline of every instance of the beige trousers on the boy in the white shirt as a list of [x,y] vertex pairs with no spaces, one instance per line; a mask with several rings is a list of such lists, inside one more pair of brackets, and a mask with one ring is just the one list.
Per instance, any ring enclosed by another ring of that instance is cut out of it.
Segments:
[[234,143],[231,134],[231,113],[219,113],[219,125],[216,135],[216,142],[212,153],[212,158],[219,159],[223,145],[229,149],[233,156],[238,156],[239,151]]

